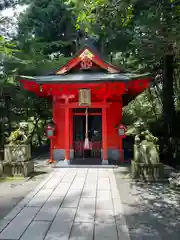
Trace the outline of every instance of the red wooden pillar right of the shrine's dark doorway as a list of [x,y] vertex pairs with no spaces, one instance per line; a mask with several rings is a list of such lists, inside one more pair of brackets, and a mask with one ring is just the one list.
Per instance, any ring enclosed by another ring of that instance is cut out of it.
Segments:
[[108,147],[107,147],[107,108],[102,108],[102,149],[103,161],[102,164],[108,164]]

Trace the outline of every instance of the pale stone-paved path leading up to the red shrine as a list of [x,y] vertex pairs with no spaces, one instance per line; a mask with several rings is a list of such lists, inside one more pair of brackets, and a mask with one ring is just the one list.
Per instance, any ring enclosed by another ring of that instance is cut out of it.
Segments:
[[113,169],[55,169],[0,222],[0,239],[129,240]]

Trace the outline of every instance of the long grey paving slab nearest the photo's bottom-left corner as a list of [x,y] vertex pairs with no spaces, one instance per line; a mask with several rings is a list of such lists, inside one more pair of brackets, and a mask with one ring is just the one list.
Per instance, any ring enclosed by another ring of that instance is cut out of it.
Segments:
[[0,239],[19,239],[38,211],[37,207],[25,207],[1,232]]

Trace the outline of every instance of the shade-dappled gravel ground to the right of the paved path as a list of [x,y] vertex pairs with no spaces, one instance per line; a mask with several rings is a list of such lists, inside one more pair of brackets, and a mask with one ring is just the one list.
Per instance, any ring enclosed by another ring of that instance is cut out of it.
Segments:
[[115,170],[131,240],[179,240],[180,192],[167,183],[137,184]]

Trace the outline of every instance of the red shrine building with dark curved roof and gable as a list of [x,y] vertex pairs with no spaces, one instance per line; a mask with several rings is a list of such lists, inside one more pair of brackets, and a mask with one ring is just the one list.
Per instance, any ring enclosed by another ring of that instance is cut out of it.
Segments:
[[[123,161],[122,108],[151,82],[107,63],[93,46],[46,76],[21,76],[23,87],[53,105],[52,158],[73,164]],[[85,146],[86,145],[86,146]]]

